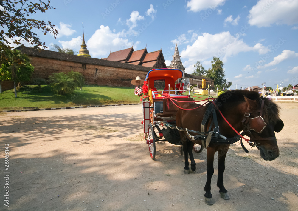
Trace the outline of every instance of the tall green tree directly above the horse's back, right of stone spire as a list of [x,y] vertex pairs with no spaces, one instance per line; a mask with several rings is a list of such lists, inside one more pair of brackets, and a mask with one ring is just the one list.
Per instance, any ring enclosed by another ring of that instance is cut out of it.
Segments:
[[214,86],[218,87],[218,89],[223,89],[224,87],[227,89],[232,85],[232,82],[224,79],[226,76],[224,74],[224,63],[217,57],[213,57],[212,68],[209,68],[207,71],[206,77],[214,80]]

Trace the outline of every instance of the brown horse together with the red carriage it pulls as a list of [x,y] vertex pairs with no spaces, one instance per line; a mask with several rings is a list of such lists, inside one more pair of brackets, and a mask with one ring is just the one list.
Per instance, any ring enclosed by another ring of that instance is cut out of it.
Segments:
[[274,160],[279,156],[274,132],[280,132],[284,124],[278,114],[279,107],[254,91],[226,91],[216,101],[212,98],[203,105],[196,104],[190,95],[180,95],[183,92],[181,82],[175,85],[182,75],[182,71],[176,69],[150,70],[147,74],[145,83],[148,83],[149,100],[142,104],[144,138],[152,159],[155,159],[157,141],[165,139],[172,144],[183,145],[186,174],[196,169],[193,147],[197,144],[200,152],[203,149],[201,145],[204,145],[207,149],[204,196],[205,203],[212,205],[211,178],[215,153],[218,152],[217,186],[221,198],[228,200],[223,177],[230,144],[241,139],[241,146],[248,152],[242,143],[243,138],[251,147],[257,147],[264,160]]

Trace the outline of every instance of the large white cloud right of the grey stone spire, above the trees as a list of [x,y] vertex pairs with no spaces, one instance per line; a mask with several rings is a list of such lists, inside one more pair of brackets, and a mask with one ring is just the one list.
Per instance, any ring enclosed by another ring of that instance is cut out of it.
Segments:
[[181,51],[181,58],[188,59],[190,65],[213,56],[220,57],[223,62],[226,62],[228,57],[235,56],[240,52],[262,49],[261,44],[258,46],[247,45],[239,37],[232,36],[229,31],[214,35],[203,33],[192,45],[187,45],[186,49]]

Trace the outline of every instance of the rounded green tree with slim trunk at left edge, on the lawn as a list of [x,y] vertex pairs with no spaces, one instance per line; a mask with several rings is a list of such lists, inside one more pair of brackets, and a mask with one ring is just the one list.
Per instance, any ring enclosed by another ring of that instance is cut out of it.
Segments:
[[6,50],[5,55],[6,60],[3,60],[0,69],[0,81],[13,81],[17,97],[15,84],[30,81],[34,67],[30,64],[29,57],[19,50]]

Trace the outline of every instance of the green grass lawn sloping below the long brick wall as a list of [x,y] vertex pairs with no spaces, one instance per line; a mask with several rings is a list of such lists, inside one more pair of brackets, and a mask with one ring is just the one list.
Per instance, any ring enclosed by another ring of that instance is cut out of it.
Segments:
[[[195,100],[201,100],[201,98],[195,98]],[[28,107],[55,108],[128,103],[141,103],[140,97],[134,95],[134,88],[90,85],[83,87],[83,90],[75,90],[72,95],[62,96],[53,93],[49,86],[42,85],[40,91],[38,86],[21,87],[17,91],[17,98],[14,97],[13,90],[0,94],[0,111]]]

